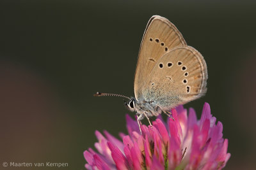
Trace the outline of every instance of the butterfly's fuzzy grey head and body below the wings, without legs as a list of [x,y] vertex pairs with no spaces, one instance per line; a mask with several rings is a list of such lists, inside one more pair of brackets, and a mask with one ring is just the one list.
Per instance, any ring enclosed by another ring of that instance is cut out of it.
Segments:
[[[161,113],[161,109],[154,101],[137,101],[132,97],[129,103],[126,103],[127,107],[131,111],[135,111],[137,115],[147,115],[147,117],[158,116]],[[142,119],[143,117],[141,117]]]

